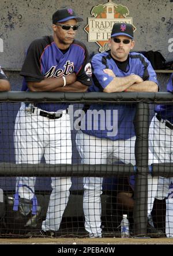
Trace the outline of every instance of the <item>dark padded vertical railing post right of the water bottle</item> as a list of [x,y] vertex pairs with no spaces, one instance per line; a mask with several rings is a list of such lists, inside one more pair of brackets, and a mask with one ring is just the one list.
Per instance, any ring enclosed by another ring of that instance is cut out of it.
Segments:
[[149,105],[138,103],[134,118],[136,131],[136,183],[134,190],[134,232],[144,236],[147,233],[148,207],[148,132],[149,132]]

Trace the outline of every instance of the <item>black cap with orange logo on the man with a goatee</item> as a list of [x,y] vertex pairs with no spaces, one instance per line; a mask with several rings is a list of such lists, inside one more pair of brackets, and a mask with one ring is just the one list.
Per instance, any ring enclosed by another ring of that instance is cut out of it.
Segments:
[[115,23],[112,32],[111,38],[113,36],[129,36],[129,38],[133,39],[133,25],[127,23]]

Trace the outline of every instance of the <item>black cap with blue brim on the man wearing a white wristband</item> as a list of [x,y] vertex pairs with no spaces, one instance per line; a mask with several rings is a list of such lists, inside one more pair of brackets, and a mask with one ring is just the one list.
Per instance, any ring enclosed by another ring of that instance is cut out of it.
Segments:
[[70,8],[59,9],[52,15],[52,23],[56,24],[57,22],[63,22],[76,18],[77,22],[83,21],[81,17],[78,17],[74,10]]

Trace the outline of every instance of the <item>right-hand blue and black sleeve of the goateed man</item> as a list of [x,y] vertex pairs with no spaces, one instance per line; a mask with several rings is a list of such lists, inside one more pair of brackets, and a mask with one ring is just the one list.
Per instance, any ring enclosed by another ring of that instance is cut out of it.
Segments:
[[140,54],[140,61],[141,61],[141,65],[140,65],[140,69],[139,69],[139,73],[138,76],[142,77],[142,79],[144,81],[153,81],[156,84],[159,84],[157,81],[157,76],[156,76],[156,72],[154,71],[151,62],[144,57],[144,55]]

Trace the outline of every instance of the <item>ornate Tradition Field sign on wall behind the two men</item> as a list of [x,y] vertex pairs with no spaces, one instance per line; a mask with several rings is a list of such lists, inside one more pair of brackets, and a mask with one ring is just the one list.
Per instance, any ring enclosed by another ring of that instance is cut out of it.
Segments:
[[[88,18],[88,24],[84,31],[88,34],[88,42],[95,42],[99,45],[99,51],[109,49],[108,39],[111,36],[111,30],[114,23],[130,23],[133,25],[133,18],[129,16],[129,9],[123,5],[117,5],[111,0],[103,5],[96,5],[92,8],[93,17]],[[134,25],[133,25],[134,27]],[[121,27],[126,30],[126,25]],[[134,27],[136,31],[136,27]]]

